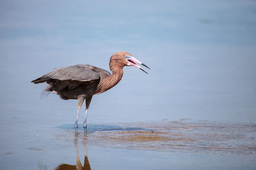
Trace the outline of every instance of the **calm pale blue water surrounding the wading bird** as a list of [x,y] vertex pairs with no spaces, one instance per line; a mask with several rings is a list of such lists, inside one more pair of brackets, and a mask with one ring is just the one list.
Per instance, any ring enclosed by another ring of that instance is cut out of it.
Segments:
[[[92,169],[255,169],[256,1],[1,1],[0,21],[0,169],[75,165],[76,101],[40,99],[45,86],[30,81],[61,66],[108,69],[120,50],[151,70],[125,67],[93,97],[92,131],[77,137]],[[196,128],[168,134],[195,140],[166,150],[105,138],[183,118],[179,128]]]

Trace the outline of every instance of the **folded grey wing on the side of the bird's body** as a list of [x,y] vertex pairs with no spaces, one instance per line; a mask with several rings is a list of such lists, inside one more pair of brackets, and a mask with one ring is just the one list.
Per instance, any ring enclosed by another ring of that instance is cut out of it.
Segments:
[[33,80],[33,83],[42,83],[48,80],[72,80],[72,81],[91,81],[100,79],[100,74],[89,67],[68,66],[54,69],[48,74]]

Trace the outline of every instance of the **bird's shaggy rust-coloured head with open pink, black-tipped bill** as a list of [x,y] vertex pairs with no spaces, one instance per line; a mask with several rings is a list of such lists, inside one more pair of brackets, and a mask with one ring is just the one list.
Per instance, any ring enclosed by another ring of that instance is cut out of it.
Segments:
[[117,52],[114,55],[112,55],[111,58],[110,58],[109,66],[110,66],[111,71],[115,70],[116,66],[121,66],[121,67],[124,67],[124,66],[135,66],[138,69],[141,69],[142,71],[147,73],[137,63],[141,64],[142,66],[147,67],[148,69],[150,69],[146,64],[143,64],[138,59],[133,57],[131,55],[131,53],[128,53],[128,52]]

